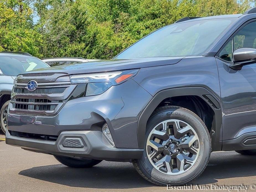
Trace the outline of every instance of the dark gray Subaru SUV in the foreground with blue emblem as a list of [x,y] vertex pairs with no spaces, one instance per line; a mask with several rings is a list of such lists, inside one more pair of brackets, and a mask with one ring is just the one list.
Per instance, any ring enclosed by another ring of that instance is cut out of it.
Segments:
[[15,79],[6,143],[70,167],[132,162],[157,185],[199,177],[212,151],[256,154],[256,9],[186,17],[112,60]]

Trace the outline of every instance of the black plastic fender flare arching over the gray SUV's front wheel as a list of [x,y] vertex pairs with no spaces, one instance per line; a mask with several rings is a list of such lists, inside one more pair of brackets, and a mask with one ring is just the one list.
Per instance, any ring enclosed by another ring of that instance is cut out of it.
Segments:
[[[175,96],[186,96],[186,95],[195,95],[201,97],[214,111],[214,120],[212,124],[212,131],[211,131],[211,139],[212,139],[212,148],[213,151],[219,151],[222,147],[222,112],[221,112],[221,105],[220,105],[220,97],[214,93],[212,90],[208,90],[204,87],[179,87],[173,89],[166,89],[158,92],[148,103],[146,108],[141,113],[139,120],[138,120],[138,128],[137,128],[137,135],[138,135],[138,144],[139,149],[144,148],[144,139],[146,133],[146,124],[156,109],[156,107],[161,103],[162,100],[175,97]],[[216,106],[214,107],[209,103],[209,98],[205,97],[205,95],[210,97],[212,103]]]

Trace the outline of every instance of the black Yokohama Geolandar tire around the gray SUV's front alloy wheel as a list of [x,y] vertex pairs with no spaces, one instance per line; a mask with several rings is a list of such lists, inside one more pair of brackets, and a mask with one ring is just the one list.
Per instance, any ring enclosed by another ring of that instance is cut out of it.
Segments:
[[[189,123],[190,126],[195,129],[200,145],[198,159],[195,161],[195,164],[186,172],[178,175],[167,175],[154,168],[149,162],[146,152],[146,140],[149,133],[157,124],[170,119],[179,119]],[[164,106],[157,108],[148,120],[145,138],[143,157],[141,159],[133,160],[133,165],[138,173],[151,183],[163,186],[184,185],[199,177],[209,162],[211,153],[211,139],[209,131],[203,121],[188,109],[177,106]]]

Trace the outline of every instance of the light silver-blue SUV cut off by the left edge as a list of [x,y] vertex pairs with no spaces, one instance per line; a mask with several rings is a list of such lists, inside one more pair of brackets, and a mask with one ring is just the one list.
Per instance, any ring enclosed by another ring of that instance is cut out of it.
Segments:
[[14,79],[22,72],[48,67],[49,65],[29,53],[0,52],[0,126],[4,133]]

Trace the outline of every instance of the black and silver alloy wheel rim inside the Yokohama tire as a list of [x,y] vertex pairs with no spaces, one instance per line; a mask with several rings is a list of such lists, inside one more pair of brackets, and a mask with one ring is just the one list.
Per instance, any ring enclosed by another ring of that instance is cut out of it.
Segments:
[[171,119],[162,121],[152,129],[146,151],[154,168],[168,175],[178,175],[195,164],[200,144],[192,126],[182,120]]

